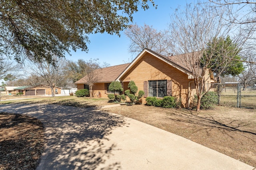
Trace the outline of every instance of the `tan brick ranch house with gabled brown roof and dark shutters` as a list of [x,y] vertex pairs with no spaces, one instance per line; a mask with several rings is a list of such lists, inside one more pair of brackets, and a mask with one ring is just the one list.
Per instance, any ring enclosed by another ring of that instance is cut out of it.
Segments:
[[[133,61],[128,64],[110,66],[96,70],[98,79],[92,90],[94,96],[100,92],[104,98],[113,93],[108,90],[112,81],[120,81],[124,91],[128,83],[133,80],[139,90],[144,90],[144,102],[148,96],[163,98],[176,96],[181,99],[182,106],[188,108],[196,93],[192,73],[179,64],[179,55],[166,57],[149,49],[144,49]],[[206,83],[214,81],[213,76],[205,76]],[[77,89],[88,88],[86,76],[75,82]]]

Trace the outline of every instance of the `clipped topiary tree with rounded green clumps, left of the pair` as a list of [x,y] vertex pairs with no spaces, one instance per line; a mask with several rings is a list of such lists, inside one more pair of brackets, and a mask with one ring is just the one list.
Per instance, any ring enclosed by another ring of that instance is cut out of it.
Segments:
[[114,82],[111,82],[108,89],[111,91],[111,92],[114,92],[114,94],[109,94],[108,95],[108,98],[110,100],[114,100],[116,102],[120,102],[121,99],[122,100],[125,100],[125,96],[124,94],[120,95],[120,93],[122,91],[124,91],[124,89],[122,88],[122,84],[118,81],[114,81]]

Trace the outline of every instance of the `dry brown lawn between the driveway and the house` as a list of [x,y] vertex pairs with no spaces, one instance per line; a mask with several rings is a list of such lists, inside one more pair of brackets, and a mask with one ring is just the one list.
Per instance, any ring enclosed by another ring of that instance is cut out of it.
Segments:
[[256,167],[256,110],[191,111],[134,105],[104,109],[185,137]]

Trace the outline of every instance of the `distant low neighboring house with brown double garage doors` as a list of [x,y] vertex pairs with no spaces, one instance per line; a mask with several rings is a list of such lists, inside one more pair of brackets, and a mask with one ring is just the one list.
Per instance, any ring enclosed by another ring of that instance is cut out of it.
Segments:
[[[21,86],[14,88],[15,92],[23,92],[24,96],[51,95],[52,91],[49,86]],[[60,87],[54,87],[55,94],[61,94]]]

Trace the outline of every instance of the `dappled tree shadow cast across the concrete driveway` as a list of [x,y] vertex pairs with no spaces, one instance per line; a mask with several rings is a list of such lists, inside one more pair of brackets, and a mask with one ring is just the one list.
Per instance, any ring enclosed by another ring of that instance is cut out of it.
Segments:
[[[23,104],[8,107],[9,112],[25,113],[44,123],[47,143],[38,170],[96,169],[111,156],[112,150],[117,149],[114,143],[105,145],[104,141],[109,140],[113,129],[126,124],[121,116],[92,108]],[[120,162],[102,169],[111,168],[121,168]]]

